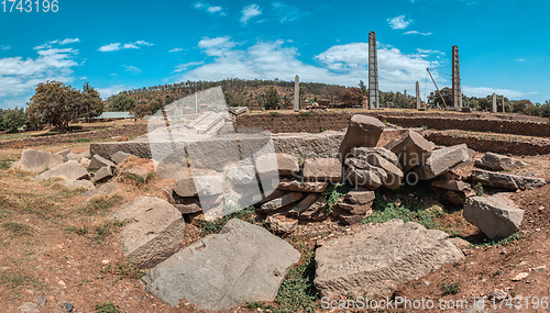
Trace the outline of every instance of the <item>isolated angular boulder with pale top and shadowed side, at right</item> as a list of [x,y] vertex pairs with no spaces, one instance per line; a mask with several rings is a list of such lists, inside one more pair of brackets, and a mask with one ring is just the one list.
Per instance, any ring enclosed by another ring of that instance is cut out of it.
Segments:
[[514,234],[524,219],[524,210],[502,193],[468,199],[462,214],[490,238],[504,238]]

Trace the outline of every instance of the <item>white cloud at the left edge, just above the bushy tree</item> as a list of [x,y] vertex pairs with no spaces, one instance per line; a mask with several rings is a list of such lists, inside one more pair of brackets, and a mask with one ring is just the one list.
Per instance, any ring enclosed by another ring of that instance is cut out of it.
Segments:
[[78,66],[77,49],[45,48],[36,53],[36,58],[0,58],[0,98],[31,93],[37,83],[46,80],[67,83],[75,79],[73,68]]

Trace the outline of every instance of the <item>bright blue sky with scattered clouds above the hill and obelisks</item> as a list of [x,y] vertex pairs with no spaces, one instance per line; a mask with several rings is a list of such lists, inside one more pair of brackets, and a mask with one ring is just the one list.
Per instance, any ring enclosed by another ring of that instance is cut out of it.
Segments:
[[450,86],[458,45],[466,96],[550,100],[546,0],[59,0],[55,13],[7,9],[0,108],[25,107],[38,82],[54,79],[77,88],[89,81],[103,98],[188,79],[296,74],[358,86],[367,80],[370,31],[383,91],[413,93],[418,80],[424,97],[433,90],[426,67]]

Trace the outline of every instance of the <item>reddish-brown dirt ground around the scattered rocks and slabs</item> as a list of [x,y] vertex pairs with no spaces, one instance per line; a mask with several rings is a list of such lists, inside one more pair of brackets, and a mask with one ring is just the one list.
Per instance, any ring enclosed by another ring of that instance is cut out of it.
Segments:
[[[79,153],[88,146],[59,145],[41,149],[70,148]],[[118,245],[117,225],[107,219],[117,205],[140,195],[164,198],[161,187],[169,181],[157,178],[145,186],[122,183],[118,195],[107,197],[99,204],[89,204],[86,198],[58,183],[34,181],[32,176],[8,170],[7,165],[20,155],[21,150],[15,149],[0,152],[1,312],[18,312],[19,305],[36,303],[37,297],[47,300],[42,312],[65,312],[62,309],[64,303],[70,303],[73,312],[96,312],[96,305],[106,302],[114,303],[121,312],[197,312],[191,305],[169,306],[145,292],[139,279],[144,271],[128,265]],[[528,164],[528,168],[518,174],[550,178],[550,155],[518,158]],[[465,174],[469,167],[471,165],[464,165],[455,171]],[[469,246],[464,249],[464,261],[399,286],[395,295],[409,300],[431,299],[436,304],[442,299],[448,306],[457,300],[473,303],[474,299],[485,297],[486,308],[492,309],[491,297],[495,290],[501,290],[506,297],[524,299],[519,311],[541,312],[532,308],[530,301],[534,297],[550,297],[550,186],[517,192],[512,198],[526,210],[517,239],[498,246]],[[405,194],[400,201],[420,199]],[[442,228],[452,230],[472,242],[482,236],[476,227],[463,220],[460,211],[442,214],[437,222]],[[300,224],[296,236],[314,247],[331,237],[352,234],[358,228],[328,219],[321,223]],[[200,237],[199,227],[187,224],[187,239],[182,246]],[[290,237],[285,239],[290,241]],[[513,281],[522,272],[528,276]],[[508,310],[506,301],[495,300],[494,303],[501,305],[498,312],[515,310]],[[527,304],[530,305],[528,310]],[[444,311],[462,312],[464,309]],[[238,308],[232,311],[256,310]]]

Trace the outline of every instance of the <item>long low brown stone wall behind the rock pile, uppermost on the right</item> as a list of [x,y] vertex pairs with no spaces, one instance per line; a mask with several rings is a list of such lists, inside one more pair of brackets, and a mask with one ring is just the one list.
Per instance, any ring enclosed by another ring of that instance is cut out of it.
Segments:
[[[524,116],[465,114],[465,113],[410,113],[410,112],[362,112],[381,121],[403,126],[430,130],[463,130],[473,132],[491,132],[528,136],[550,137],[548,119],[522,119]],[[237,127],[257,127],[272,133],[319,133],[323,131],[341,131],[348,127],[351,113],[268,113],[245,114],[237,118]],[[544,122],[546,121],[546,122]]]

